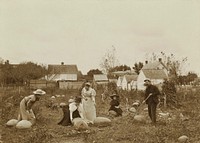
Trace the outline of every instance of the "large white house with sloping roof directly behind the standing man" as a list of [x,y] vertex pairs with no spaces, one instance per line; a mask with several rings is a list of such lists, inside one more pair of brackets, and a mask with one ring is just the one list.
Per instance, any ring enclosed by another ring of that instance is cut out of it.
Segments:
[[146,78],[151,79],[152,84],[160,85],[164,79],[168,79],[167,67],[161,60],[144,65],[137,79],[137,87],[139,90],[145,89],[144,80]]

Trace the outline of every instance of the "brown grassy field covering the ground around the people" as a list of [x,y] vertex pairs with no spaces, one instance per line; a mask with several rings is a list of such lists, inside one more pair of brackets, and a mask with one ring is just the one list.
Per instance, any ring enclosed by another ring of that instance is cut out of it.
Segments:
[[[110,118],[112,124],[107,127],[98,127],[92,125],[87,131],[77,131],[73,127],[63,127],[57,125],[62,118],[62,111],[57,108],[61,102],[66,102],[71,96],[79,95],[77,90],[55,90],[48,89],[47,95],[37,102],[33,110],[36,113],[37,123],[31,129],[18,130],[15,127],[9,128],[5,123],[13,118],[17,118],[19,103],[24,96],[31,94],[31,90],[7,89],[1,90],[2,110],[0,120],[1,141],[4,143],[176,143],[178,137],[186,135],[188,142],[200,143],[200,90],[189,91],[186,96],[185,91],[178,93],[180,105],[173,109],[162,109],[163,112],[170,113],[170,119],[158,118],[157,126],[149,123],[147,112],[143,109],[140,114],[145,115],[146,121],[137,122],[133,115],[126,112],[126,98],[129,105],[136,100],[142,100],[142,94],[121,93],[121,106],[124,110],[122,117]],[[97,91],[97,116],[107,116],[110,99],[101,101],[100,94]],[[65,95],[65,97],[56,98],[53,101],[55,108],[50,108],[52,95]],[[145,108],[146,105],[143,105]],[[180,117],[182,114],[187,120]]]

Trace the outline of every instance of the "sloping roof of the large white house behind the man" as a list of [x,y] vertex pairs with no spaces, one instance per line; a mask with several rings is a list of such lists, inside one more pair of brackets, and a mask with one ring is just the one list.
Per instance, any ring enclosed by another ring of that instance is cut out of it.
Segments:
[[150,78],[150,79],[165,79],[165,78],[168,78],[167,74],[164,72],[164,70],[143,69],[142,71],[143,71],[146,78]]

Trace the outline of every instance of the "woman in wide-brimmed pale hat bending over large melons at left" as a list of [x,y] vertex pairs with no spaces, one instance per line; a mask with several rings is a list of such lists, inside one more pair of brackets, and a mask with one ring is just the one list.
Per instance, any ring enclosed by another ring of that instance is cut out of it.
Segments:
[[18,121],[29,120],[35,122],[35,114],[33,113],[32,106],[36,101],[40,100],[42,95],[46,94],[45,91],[37,89],[33,91],[33,95],[24,97],[20,102],[20,112],[18,115]]

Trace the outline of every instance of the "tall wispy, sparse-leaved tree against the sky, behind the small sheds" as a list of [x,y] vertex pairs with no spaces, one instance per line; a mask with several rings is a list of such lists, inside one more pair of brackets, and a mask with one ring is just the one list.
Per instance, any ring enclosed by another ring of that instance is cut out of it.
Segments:
[[108,74],[110,69],[118,65],[118,60],[116,58],[116,49],[113,48],[108,50],[107,53],[102,58],[100,67],[103,69],[104,73]]

